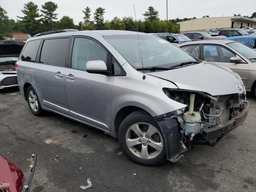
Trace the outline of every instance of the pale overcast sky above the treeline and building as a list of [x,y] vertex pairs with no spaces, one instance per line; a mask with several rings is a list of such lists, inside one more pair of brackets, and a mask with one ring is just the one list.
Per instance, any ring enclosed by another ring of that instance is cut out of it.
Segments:
[[[7,11],[9,18],[16,20],[16,16],[22,16],[20,11],[24,3],[29,0],[0,0],[0,6]],[[42,4],[47,0],[32,0],[41,9]],[[159,12],[159,18],[166,19],[166,0],[52,0],[58,4],[58,19],[62,16],[69,16],[74,19],[75,24],[82,21],[82,10],[89,6],[93,13],[98,7],[105,8],[105,20],[111,20],[114,16],[133,16],[133,4],[136,9],[137,19],[143,19],[142,15],[149,6],[153,6]],[[201,18],[204,15],[211,17],[251,16],[256,12],[256,0],[168,0],[168,19],[174,18]]]

